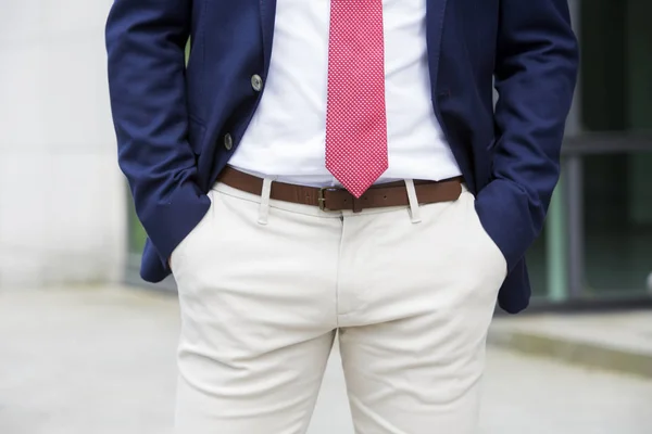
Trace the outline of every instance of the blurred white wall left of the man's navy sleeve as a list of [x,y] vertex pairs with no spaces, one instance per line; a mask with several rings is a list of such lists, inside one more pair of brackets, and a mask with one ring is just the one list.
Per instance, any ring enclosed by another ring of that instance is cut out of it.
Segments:
[[110,5],[0,1],[0,288],[122,278],[127,197],[106,88]]

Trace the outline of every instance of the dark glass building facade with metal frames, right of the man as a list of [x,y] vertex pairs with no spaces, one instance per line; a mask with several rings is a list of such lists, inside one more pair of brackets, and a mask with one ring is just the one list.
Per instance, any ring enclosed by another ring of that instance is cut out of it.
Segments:
[[579,88],[562,181],[529,253],[539,299],[649,299],[652,272],[652,2],[572,1]]

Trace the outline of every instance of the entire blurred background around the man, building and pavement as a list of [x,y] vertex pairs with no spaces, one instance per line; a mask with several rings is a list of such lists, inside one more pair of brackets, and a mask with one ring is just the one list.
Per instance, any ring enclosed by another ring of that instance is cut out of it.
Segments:
[[[581,71],[563,174],[528,253],[532,306],[499,314],[489,336],[484,434],[652,433],[652,1],[569,4]],[[0,434],[162,433],[172,420],[174,282],[138,277],[110,7],[0,2]],[[338,357],[311,434],[353,432]]]

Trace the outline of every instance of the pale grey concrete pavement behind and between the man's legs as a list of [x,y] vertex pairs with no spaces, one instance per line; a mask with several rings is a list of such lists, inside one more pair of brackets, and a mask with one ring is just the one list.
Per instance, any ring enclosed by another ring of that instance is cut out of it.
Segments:
[[[177,333],[171,295],[0,292],[0,434],[168,432]],[[338,357],[310,434],[353,433]],[[651,380],[490,348],[485,384],[481,434],[652,432]]]

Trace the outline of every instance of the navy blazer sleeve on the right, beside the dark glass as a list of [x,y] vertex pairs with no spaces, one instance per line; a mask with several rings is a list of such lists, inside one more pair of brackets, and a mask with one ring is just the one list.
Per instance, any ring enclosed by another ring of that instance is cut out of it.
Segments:
[[577,69],[567,0],[500,0],[497,145],[476,209],[510,270],[543,227]]

